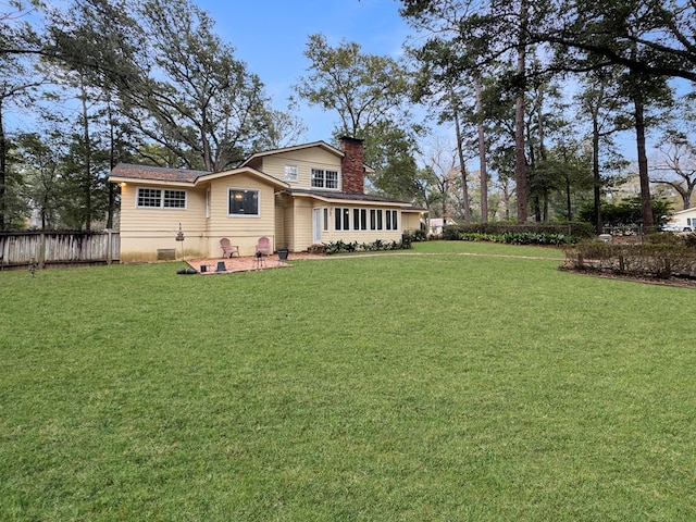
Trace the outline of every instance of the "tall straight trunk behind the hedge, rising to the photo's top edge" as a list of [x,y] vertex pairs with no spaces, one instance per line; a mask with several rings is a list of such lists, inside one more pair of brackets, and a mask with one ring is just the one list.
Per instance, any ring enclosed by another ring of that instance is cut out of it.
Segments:
[[520,39],[518,44],[518,95],[514,104],[514,177],[518,192],[518,223],[524,223],[526,211],[526,161],[524,158],[524,94],[526,71],[525,33],[527,24],[527,0],[522,0],[520,7]]

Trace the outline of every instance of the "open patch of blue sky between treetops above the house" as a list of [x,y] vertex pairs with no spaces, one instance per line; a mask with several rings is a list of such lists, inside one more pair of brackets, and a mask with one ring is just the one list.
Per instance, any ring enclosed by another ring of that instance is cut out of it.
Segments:
[[[307,75],[302,54],[309,35],[328,44],[355,41],[370,54],[397,57],[409,34],[396,0],[198,0],[215,21],[215,32],[235,48],[235,57],[261,78],[277,109],[286,109],[291,86]],[[304,140],[331,140],[335,113],[303,104]]]

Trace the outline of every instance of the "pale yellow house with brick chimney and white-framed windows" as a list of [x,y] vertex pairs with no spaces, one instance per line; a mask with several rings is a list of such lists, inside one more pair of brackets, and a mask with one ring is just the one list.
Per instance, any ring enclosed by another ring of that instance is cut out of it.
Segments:
[[109,181],[121,186],[121,260],[176,248],[220,257],[223,237],[241,256],[253,254],[261,236],[272,250],[290,252],[337,240],[401,240],[424,210],[364,194],[365,169],[355,138],[343,138],[340,150],[315,141],[259,152],[224,172],[120,163]]

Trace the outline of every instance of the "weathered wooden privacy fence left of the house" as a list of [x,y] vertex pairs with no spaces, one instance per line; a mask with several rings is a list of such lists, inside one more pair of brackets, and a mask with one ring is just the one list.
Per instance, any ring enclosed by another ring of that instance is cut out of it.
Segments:
[[117,232],[2,232],[0,269],[119,261]]

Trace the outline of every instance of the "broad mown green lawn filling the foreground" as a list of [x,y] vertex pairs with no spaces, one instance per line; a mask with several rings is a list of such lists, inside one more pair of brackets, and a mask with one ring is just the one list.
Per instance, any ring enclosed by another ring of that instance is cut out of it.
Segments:
[[0,273],[0,520],[696,519],[693,290],[414,251]]

